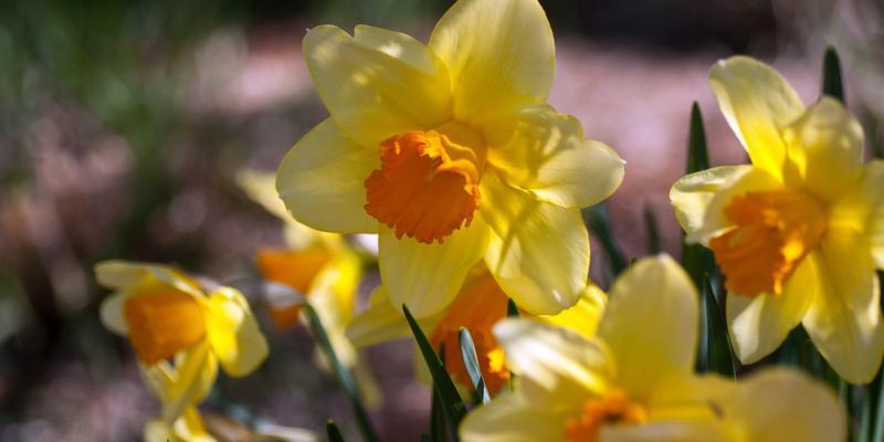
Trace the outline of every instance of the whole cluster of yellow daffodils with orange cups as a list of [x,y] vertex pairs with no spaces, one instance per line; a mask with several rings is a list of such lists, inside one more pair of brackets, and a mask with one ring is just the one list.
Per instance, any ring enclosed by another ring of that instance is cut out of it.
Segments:
[[[428,44],[322,25],[304,56],[329,116],[275,176],[238,177],[285,225],[284,249],[256,252],[249,297],[278,329],[322,332],[318,364],[345,388],[355,376],[362,425],[359,397],[378,393],[359,348],[414,336],[441,350],[415,355],[418,379],[444,387],[441,364],[455,396],[486,391],[465,419],[445,414],[463,441],[846,440],[845,410],[808,375],[696,371],[699,295],[669,256],[639,260],[609,294],[587,280],[580,210],[619,187],[624,162],[546,103],[555,46],[537,0],[460,0]],[[686,242],[720,271],[736,358],[761,360],[800,324],[843,380],[871,381],[884,355],[884,161],[863,162],[862,128],[839,101],[806,107],[762,63],[719,62],[711,84],[751,165],[688,175],[670,197]],[[359,308],[375,260],[380,285]],[[267,355],[246,297],[164,265],[96,273],[115,291],[102,318],[162,406],[146,439],[213,440],[197,410],[219,364],[239,377]]]

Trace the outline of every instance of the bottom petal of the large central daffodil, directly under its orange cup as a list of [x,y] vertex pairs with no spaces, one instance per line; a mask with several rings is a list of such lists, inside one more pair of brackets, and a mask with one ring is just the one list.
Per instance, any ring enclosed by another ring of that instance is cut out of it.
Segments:
[[378,236],[380,278],[392,304],[408,305],[417,318],[432,316],[448,306],[466,273],[485,252],[488,229],[476,217],[444,242],[424,244],[409,236],[396,238],[387,227]]

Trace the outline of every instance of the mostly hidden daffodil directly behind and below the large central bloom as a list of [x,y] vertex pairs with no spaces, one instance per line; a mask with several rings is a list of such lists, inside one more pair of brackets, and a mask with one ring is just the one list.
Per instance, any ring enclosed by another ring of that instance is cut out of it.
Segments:
[[[534,320],[569,327],[585,336],[592,336],[606,303],[604,293],[589,284],[572,307],[557,315],[535,316],[523,312]],[[444,344],[445,367],[460,386],[471,386],[470,376],[460,351],[460,329],[470,330],[475,346],[482,377],[488,391],[494,394],[509,379],[504,364],[504,352],[492,328],[507,314],[507,296],[483,265],[476,265],[467,275],[454,302],[442,313],[420,319],[419,324],[433,348]],[[370,306],[354,318],[347,335],[357,346],[368,346],[390,339],[411,336],[402,314],[392,305],[383,288],[371,295]],[[429,380],[420,355],[415,367],[419,378]]]

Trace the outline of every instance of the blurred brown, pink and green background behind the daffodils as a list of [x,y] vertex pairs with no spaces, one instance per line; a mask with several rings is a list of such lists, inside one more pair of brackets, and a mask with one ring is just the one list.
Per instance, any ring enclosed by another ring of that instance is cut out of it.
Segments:
[[[718,59],[772,63],[810,103],[833,45],[849,107],[870,149],[884,151],[882,0],[541,3],[557,43],[550,103],[628,161],[608,204],[628,257],[648,253],[645,208],[664,249],[678,253],[667,192],[684,171],[692,102],[713,165],[744,161],[706,83]],[[274,170],[326,115],[301,54],[305,29],[370,23],[425,41],[449,6],[0,2],[0,441],[140,440],[158,406],[127,344],[98,320],[107,292],[93,264],[122,257],[221,282],[249,276],[256,248],[283,245],[282,223],[233,177],[245,166]],[[593,269],[604,260],[594,242],[592,260]],[[249,378],[222,376],[203,409],[244,425],[322,430],[334,418],[356,438],[335,379],[312,364],[308,333],[265,332],[270,359]],[[387,398],[371,412],[382,439],[417,440],[430,392],[412,380],[411,344],[366,356]]]

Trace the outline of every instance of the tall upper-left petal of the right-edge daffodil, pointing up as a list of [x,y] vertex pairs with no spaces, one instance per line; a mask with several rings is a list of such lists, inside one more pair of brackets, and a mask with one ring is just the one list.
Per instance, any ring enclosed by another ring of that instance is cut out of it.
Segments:
[[753,165],[781,177],[786,145],[780,130],[804,110],[798,93],[772,67],[746,56],[719,61],[709,85]]

